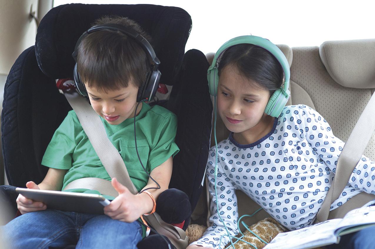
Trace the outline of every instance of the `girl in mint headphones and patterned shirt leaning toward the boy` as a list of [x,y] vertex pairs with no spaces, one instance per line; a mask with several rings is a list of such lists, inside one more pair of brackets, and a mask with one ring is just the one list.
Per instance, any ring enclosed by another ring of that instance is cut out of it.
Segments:
[[[332,184],[344,142],[333,135],[327,121],[312,108],[306,105],[284,107],[288,91],[282,84],[284,75],[286,82],[289,80],[289,66],[285,65],[286,58],[280,57],[281,51],[275,48],[260,37],[237,37],[220,47],[214,57],[210,69],[217,65],[216,112],[231,133],[228,139],[217,144],[217,151],[215,146],[210,150],[206,172],[211,197],[210,227],[188,249],[217,248],[220,237],[227,234],[226,229],[232,236],[239,232],[237,189],[282,225],[296,230],[313,224]],[[215,77],[209,79],[209,84],[213,80]],[[216,87],[211,87],[211,94],[213,90]],[[281,95],[284,101],[284,108],[276,115],[268,104],[280,97],[275,95]],[[375,193],[375,177],[371,178],[375,169],[373,163],[362,156],[331,210],[362,191]],[[374,231],[374,228],[366,228],[348,234],[336,246],[371,248],[369,234]],[[228,242],[228,236],[222,237],[220,248]]]

